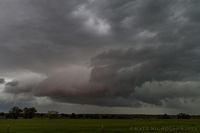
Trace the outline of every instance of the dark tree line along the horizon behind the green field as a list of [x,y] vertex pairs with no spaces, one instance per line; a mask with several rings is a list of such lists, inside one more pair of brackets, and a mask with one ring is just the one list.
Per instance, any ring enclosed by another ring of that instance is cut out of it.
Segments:
[[14,106],[9,110],[9,113],[0,113],[0,118],[5,119],[32,119],[32,118],[44,118],[44,119],[148,119],[148,118],[157,118],[157,119],[190,119],[200,118],[199,115],[190,116],[188,114],[179,113],[177,115],[145,115],[145,114],[64,114],[59,113],[58,111],[50,110],[47,113],[37,113],[35,107],[20,109],[19,107]]

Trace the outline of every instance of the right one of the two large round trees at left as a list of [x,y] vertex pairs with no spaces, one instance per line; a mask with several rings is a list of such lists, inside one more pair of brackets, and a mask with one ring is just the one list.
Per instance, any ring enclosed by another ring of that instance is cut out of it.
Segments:
[[36,112],[37,112],[37,110],[34,107],[32,107],[32,108],[25,107],[23,109],[23,118],[31,119],[35,116]]

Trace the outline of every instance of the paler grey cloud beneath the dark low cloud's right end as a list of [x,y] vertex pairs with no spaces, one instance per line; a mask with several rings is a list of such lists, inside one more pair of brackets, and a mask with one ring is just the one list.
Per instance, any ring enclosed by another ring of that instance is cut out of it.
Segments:
[[150,103],[157,106],[164,104],[170,108],[187,108],[184,104],[192,102],[195,103],[198,101],[200,94],[198,89],[199,86],[200,83],[195,81],[146,82],[142,88],[136,87],[135,93],[132,93],[130,97],[134,100],[139,100],[144,103]]

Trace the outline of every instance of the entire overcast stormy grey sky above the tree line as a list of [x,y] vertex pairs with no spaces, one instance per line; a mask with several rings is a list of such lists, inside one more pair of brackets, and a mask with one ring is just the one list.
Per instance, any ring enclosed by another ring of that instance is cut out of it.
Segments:
[[198,114],[199,0],[0,0],[0,112]]

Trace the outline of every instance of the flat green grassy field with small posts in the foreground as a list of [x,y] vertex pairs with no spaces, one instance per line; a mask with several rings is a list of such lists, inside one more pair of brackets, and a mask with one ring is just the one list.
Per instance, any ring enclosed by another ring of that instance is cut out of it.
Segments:
[[0,119],[0,133],[199,133],[200,120]]

